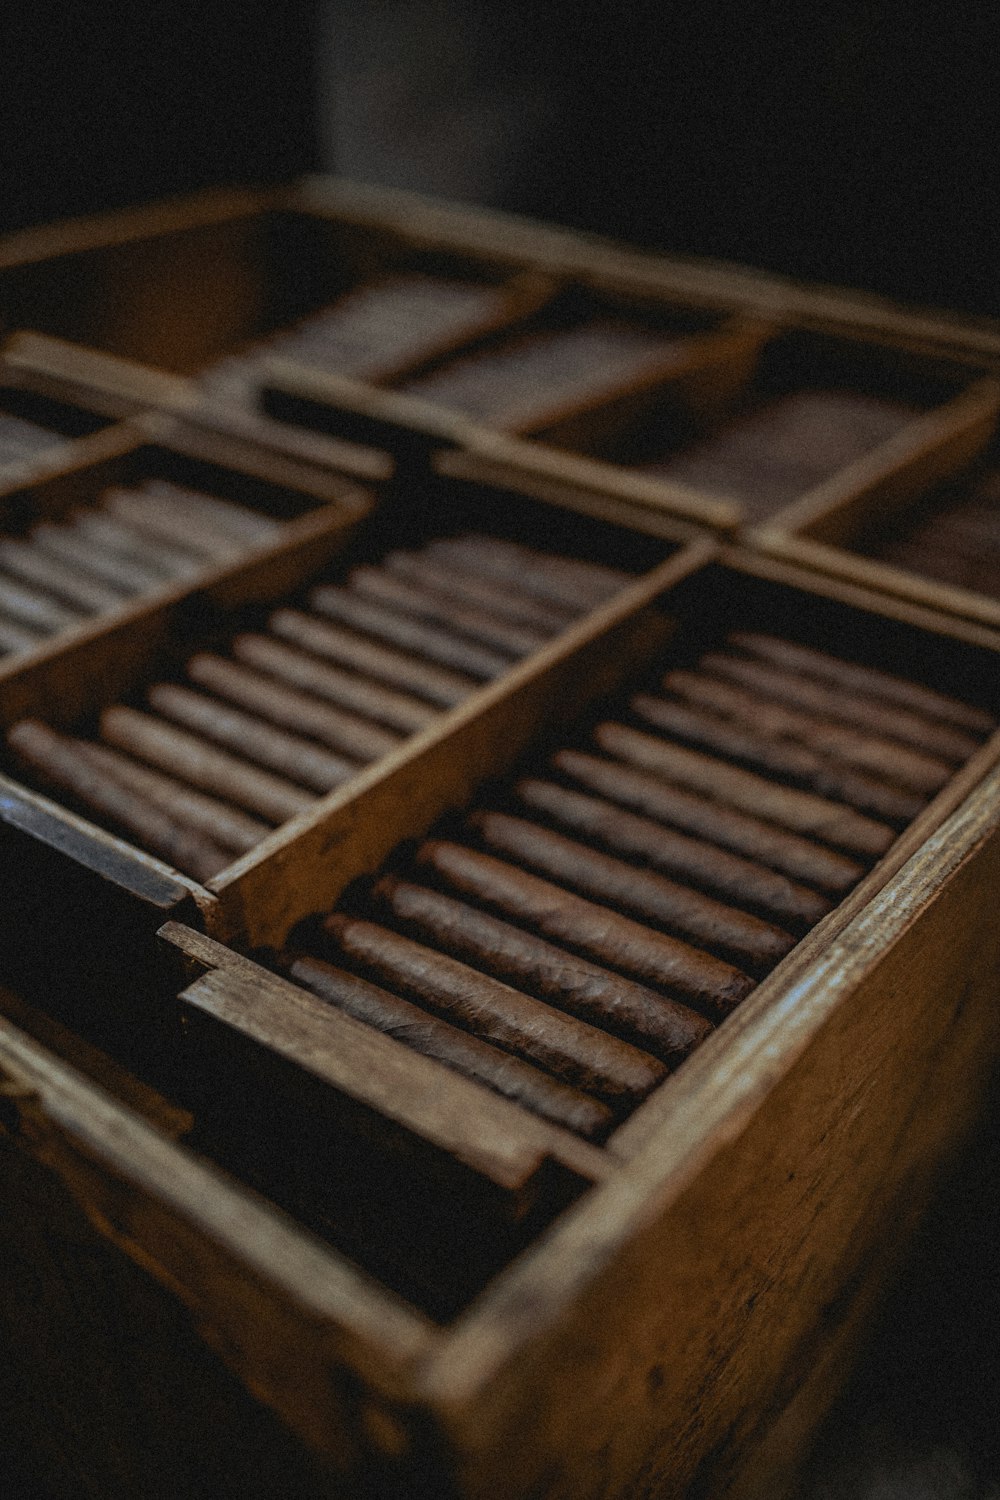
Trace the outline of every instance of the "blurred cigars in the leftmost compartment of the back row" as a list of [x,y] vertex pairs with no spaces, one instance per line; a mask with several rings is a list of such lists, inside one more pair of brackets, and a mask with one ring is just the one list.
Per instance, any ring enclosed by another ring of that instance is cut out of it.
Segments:
[[358,286],[294,327],[222,360],[204,380],[213,394],[246,400],[255,388],[255,366],[262,354],[378,380],[499,316],[505,298],[502,286],[489,284],[415,274],[387,278]]

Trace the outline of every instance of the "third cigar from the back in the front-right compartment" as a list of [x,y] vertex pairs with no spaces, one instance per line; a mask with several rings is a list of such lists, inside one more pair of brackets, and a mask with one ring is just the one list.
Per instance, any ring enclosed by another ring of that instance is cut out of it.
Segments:
[[[795,740],[825,759],[859,766],[883,783],[895,782],[913,792],[931,795],[954,772],[955,762],[951,759],[912,750],[898,740],[864,734],[859,728],[801,708],[787,708],[700,672],[667,672],[663,686],[711,714],[736,720],[757,735]],[[945,729],[943,734],[951,736],[954,730]],[[969,742],[975,744],[972,740]]]

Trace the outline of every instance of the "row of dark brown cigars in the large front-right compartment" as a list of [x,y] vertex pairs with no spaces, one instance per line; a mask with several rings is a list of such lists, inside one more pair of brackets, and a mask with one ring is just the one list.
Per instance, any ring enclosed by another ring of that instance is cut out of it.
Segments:
[[996,728],[921,684],[730,636],[403,849],[277,966],[603,1138]]

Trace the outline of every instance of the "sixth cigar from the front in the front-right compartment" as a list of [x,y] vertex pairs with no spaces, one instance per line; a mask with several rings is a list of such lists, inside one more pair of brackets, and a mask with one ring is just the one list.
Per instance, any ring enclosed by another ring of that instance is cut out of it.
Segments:
[[546,813],[562,828],[723,896],[778,926],[804,932],[831,910],[825,896],[763,864],[727,854],[702,838],[688,838],[613,802],[534,777],[519,782],[514,790],[526,807]]

